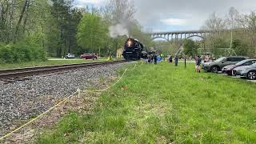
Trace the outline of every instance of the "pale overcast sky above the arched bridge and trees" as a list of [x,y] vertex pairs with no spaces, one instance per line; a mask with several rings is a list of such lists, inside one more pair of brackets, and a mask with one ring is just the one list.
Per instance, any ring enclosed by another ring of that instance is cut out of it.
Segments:
[[[77,6],[104,5],[106,0],[76,0]],[[153,31],[198,30],[216,12],[225,16],[231,6],[241,13],[256,10],[256,0],[134,0],[135,18]]]

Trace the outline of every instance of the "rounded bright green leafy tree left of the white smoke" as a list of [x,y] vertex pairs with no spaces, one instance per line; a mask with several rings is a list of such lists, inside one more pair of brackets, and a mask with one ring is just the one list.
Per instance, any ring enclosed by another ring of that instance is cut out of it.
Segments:
[[107,26],[98,14],[86,13],[78,25],[78,45],[90,52],[104,45],[108,34]]

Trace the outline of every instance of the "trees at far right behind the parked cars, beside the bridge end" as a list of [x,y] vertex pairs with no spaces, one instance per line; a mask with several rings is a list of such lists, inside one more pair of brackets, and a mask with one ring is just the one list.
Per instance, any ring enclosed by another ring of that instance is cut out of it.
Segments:
[[[230,7],[225,16],[210,14],[202,30],[213,30],[206,36],[205,46],[215,55],[256,57],[256,13],[240,13]],[[225,32],[221,32],[224,30]],[[229,50],[230,49],[230,50]]]

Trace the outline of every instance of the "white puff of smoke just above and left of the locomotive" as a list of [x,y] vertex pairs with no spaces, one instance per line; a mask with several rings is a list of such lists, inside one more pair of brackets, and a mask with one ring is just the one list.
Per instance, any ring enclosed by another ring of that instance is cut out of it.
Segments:
[[124,36],[129,37],[129,31],[126,28],[126,26],[122,25],[121,23],[116,26],[110,26],[109,27],[109,34],[111,38],[117,38],[118,36]]

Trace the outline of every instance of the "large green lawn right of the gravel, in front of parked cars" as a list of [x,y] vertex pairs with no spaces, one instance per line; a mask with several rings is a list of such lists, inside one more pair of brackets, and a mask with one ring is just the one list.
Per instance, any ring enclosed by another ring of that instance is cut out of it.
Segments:
[[103,93],[94,114],[66,115],[38,143],[256,143],[255,97],[242,79],[145,64]]

